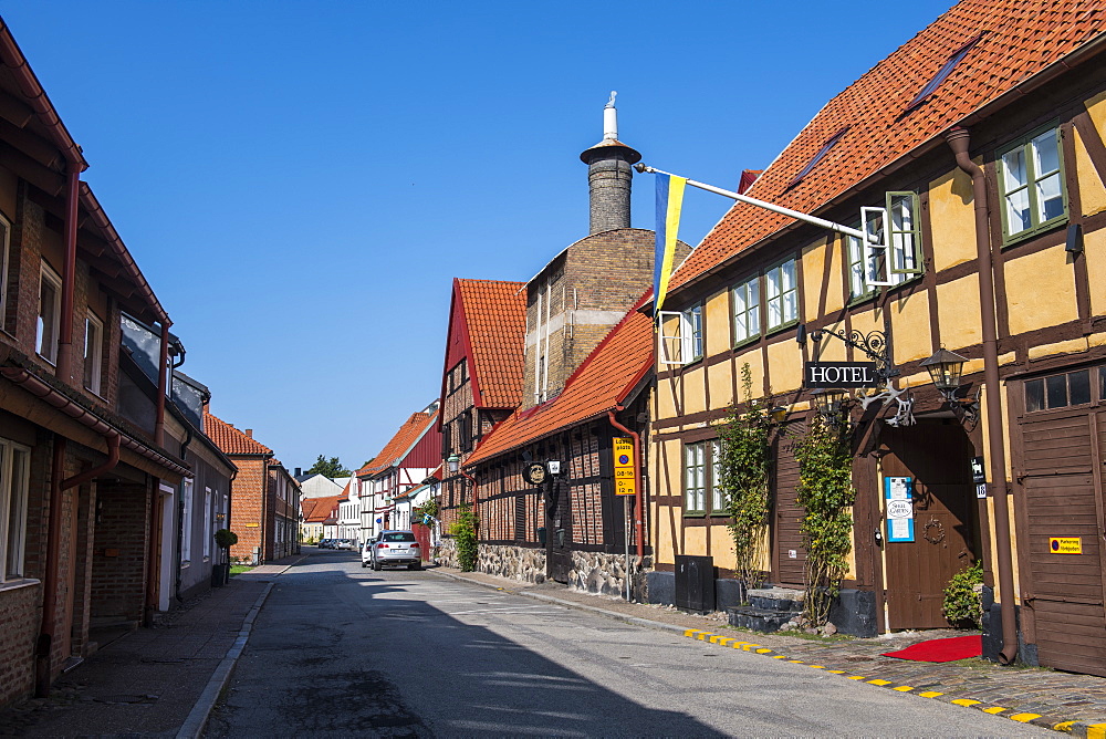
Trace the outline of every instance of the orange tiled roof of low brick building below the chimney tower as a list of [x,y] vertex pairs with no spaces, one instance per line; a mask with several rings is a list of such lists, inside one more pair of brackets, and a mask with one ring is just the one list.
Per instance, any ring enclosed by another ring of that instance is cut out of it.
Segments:
[[651,296],[650,289],[572,373],[560,395],[500,423],[465,466],[615,410],[653,368],[653,320],[637,310]]

